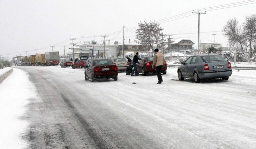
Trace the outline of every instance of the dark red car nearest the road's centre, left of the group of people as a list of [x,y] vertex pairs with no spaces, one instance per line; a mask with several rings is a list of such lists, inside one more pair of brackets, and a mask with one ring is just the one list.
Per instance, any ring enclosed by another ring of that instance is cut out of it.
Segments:
[[96,59],[91,60],[84,69],[85,80],[91,79],[94,82],[96,79],[112,78],[117,81],[117,66],[110,59]]

